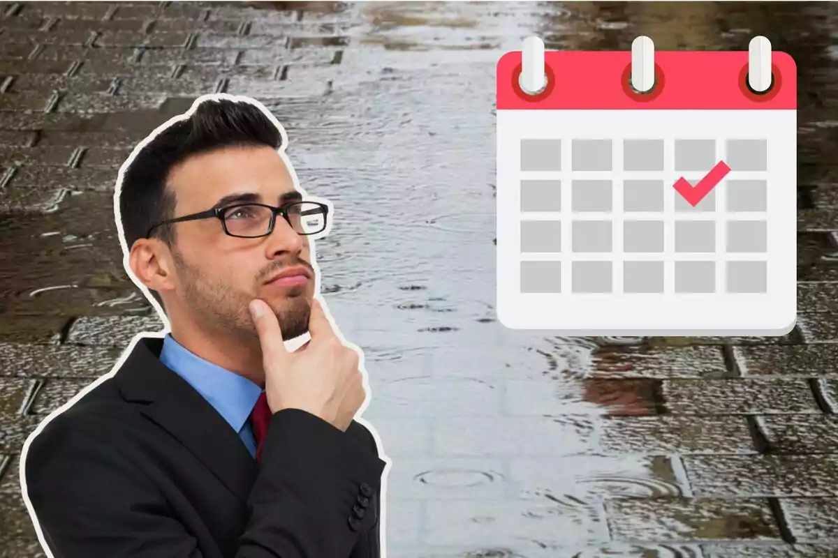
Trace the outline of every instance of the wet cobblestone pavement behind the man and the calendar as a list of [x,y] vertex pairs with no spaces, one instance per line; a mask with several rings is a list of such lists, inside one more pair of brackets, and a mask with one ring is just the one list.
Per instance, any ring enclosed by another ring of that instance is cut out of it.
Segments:
[[[626,23],[629,22],[629,23]],[[746,49],[799,66],[799,321],[784,338],[557,338],[494,320],[494,62]],[[287,125],[394,466],[391,558],[838,553],[835,3],[0,3],[0,555],[43,555],[23,440],[156,330],[116,169],[195,96]]]

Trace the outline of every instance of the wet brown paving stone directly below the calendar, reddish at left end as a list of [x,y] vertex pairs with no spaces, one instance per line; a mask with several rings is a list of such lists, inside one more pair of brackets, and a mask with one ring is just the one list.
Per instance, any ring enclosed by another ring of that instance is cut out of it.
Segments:
[[717,346],[604,348],[595,352],[592,360],[592,376],[674,378],[727,374],[722,350]]

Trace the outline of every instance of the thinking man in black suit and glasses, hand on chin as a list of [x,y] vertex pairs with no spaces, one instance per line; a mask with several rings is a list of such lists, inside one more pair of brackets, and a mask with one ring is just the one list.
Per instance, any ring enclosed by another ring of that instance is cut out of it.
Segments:
[[24,446],[56,558],[380,555],[386,463],[353,420],[359,355],[315,298],[309,238],[330,207],[303,197],[285,131],[249,101],[202,97],[122,166],[127,269],[170,333],[138,336]]

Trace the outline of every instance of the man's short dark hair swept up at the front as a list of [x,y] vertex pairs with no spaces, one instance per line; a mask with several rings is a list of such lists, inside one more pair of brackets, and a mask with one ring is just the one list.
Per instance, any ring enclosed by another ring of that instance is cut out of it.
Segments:
[[[282,146],[277,126],[256,105],[245,101],[202,101],[188,119],[179,120],[143,146],[122,177],[119,212],[130,250],[155,224],[173,218],[174,192],[167,189],[174,166],[228,146]],[[155,228],[152,236],[171,244],[171,226]]]

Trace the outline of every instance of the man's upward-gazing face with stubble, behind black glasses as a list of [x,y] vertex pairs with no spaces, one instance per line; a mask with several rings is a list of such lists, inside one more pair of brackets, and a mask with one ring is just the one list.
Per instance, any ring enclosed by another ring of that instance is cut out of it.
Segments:
[[[168,187],[177,198],[174,217],[243,202],[281,206],[300,196],[284,161],[268,146],[230,147],[190,157],[170,173]],[[173,227],[174,296],[193,320],[234,335],[256,335],[248,304],[259,298],[272,306],[286,340],[308,330],[314,294],[308,238],[282,215],[277,215],[273,232],[262,238],[231,237],[217,218]],[[271,281],[297,266],[308,279]]]

